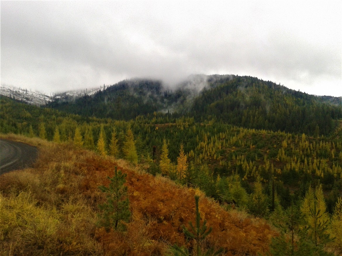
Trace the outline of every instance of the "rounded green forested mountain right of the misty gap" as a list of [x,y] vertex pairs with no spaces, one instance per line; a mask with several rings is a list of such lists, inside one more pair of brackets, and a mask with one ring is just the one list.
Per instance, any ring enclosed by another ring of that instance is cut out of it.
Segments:
[[196,120],[211,116],[247,128],[329,134],[342,118],[342,107],[322,101],[322,97],[244,76],[203,91],[189,115]]

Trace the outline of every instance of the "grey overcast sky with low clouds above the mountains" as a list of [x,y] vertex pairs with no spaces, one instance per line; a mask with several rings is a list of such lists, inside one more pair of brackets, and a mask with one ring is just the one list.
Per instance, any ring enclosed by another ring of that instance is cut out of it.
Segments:
[[342,1],[1,1],[1,85],[257,76],[342,96]]

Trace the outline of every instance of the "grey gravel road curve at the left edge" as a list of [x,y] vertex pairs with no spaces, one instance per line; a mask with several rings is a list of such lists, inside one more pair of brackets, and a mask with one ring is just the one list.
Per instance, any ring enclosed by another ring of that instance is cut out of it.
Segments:
[[30,167],[36,160],[38,150],[34,146],[10,140],[0,140],[0,175]]

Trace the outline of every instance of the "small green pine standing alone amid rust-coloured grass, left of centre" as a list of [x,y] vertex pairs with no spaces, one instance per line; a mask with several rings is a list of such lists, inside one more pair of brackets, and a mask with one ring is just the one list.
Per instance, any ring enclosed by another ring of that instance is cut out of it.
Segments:
[[98,187],[106,193],[106,203],[99,205],[98,208],[102,211],[99,224],[107,231],[110,228],[114,228],[114,230],[124,228],[123,222],[128,222],[130,219],[127,186],[124,186],[126,176],[126,173],[117,171],[117,167],[115,167],[114,176],[112,178],[107,176],[107,179],[110,180],[109,186]]

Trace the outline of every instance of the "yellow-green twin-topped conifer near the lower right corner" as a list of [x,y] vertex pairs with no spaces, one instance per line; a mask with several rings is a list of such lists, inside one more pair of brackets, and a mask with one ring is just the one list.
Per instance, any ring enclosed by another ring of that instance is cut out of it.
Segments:
[[329,216],[326,212],[322,185],[315,190],[309,187],[300,209],[308,227],[308,236],[314,245],[317,247],[330,242]]

